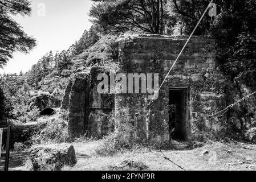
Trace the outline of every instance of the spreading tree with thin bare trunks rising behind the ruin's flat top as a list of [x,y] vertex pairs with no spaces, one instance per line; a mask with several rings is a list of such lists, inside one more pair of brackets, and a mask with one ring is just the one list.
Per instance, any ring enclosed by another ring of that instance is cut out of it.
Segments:
[[166,20],[173,19],[165,10],[167,2],[165,0],[96,2],[90,10],[90,16],[94,18],[91,21],[108,32],[139,30],[151,34],[162,34],[166,24],[170,23]]

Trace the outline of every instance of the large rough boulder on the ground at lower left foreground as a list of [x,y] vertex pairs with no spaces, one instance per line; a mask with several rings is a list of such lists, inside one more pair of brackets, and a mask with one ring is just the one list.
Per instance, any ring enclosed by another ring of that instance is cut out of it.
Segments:
[[72,145],[62,149],[35,146],[30,153],[30,163],[34,171],[60,171],[65,165],[73,167],[77,162]]

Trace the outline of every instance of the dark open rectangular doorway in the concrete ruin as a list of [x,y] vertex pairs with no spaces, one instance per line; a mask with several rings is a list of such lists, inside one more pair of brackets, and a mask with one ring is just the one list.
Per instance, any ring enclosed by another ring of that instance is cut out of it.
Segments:
[[169,90],[170,139],[186,140],[189,137],[189,88]]

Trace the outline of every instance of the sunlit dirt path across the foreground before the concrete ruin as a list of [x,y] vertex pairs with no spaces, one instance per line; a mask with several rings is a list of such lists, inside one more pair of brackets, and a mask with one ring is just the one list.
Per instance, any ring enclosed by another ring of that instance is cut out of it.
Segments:
[[[63,170],[93,171],[109,170],[126,159],[144,162],[148,170],[173,171],[183,170],[256,170],[256,145],[243,143],[220,143],[206,144],[204,147],[193,150],[163,150],[162,152],[148,149],[135,150],[115,156],[101,157],[95,154],[95,148],[101,141],[74,143],[78,163],[72,167],[64,167]],[[56,144],[54,144],[56,145]],[[62,144],[59,144],[61,147]],[[248,149],[245,149],[245,148]],[[250,149],[249,149],[250,148]],[[203,154],[205,152],[205,154]],[[24,170],[23,164],[27,154],[11,153],[10,171]],[[172,162],[178,164],[176,166]],[[3,167],[3,158],[0,160],[0,170]]]

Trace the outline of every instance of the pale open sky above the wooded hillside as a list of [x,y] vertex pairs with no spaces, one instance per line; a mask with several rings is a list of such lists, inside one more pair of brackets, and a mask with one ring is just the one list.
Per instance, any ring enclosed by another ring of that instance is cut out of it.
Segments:
[[[43,6],[45,16],[42,16]],[[47,52],[55,54],[68,49],[91,27],[88,16],[91,6],[89,0],[33,0],[31,16],[14,19],[36,39],[37,46],[29,54],[14,53],[14,59],[0,69],[0,73],[27,72]]]

